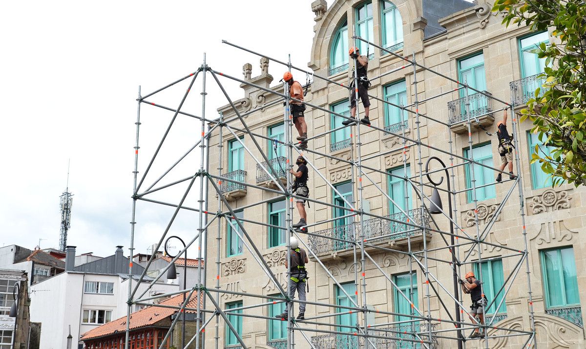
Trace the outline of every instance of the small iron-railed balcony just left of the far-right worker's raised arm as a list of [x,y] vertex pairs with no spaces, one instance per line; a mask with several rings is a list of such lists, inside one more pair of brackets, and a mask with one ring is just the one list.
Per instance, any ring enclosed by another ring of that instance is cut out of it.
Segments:
[[[490,96],[489,92],[482,91]],[[487,96],[476,93],[468,96],[469,106],[466,108],[466,97],[458,98],[455,101],[448,102],[448,124],[455,133],[468,132],[468,113],[470,110],[470,119],[472,127],[479,129],[478,123],[483,127],[488,127],[495,122],[495,116],[492,114],[492,101]]]

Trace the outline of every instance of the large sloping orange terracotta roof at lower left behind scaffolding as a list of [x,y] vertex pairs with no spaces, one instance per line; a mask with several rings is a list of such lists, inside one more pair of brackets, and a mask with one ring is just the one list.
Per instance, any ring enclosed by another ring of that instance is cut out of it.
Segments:
[[[200,304],[203,304],[202,298],[205,295],[200,296]],[[176,305],[180,306],[183,303],[183,295],[178,295],[166,300],[163,300],[161,303],[162,305]],[[196,294],[193,293],[191,299],[187,307],[189,308],[196,308]],[[138,310],[138,312],[134,312],[130,315],[130,329],[138,329],[140,327],[151,326],[168,316],[173,315],[173,313],[177,312],[177,309],[171,308],[163,308],[158,306],[148,306],[144,309]],[[195,313],[195,310],[186,310],[188,313]],[[104,337],[109,336],[110,334],[120,333],[126,331],[126,316],[122,316],[120,319],[113,320],[111,322],[105,323],[101,326],[96,327],[90,331],[87,331],[83,335],[81,335],[81,340],[88,340],[91,338],[97,337]]]

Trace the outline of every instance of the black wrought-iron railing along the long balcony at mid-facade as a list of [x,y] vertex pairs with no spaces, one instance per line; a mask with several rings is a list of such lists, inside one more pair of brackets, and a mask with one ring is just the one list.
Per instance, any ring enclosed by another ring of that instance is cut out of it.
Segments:
[[[403,213],[394,213],[389,217],[400,222],[412,223],[417,225],[424,225],[430,227],[430,217],[427,212],[424,213],[424,219],[421,219],[421,210],[410,210],[409,216]],[[379,244],[384,241],[395,241],[406,239],[408,236],[413,237],[420,234],[421,230],[417,227],[409,226],[398,222],[392,222],[386,219],[373,218],[364,220],[364,231],[360,231],[360,223],[350,223],[343,226],[337,226],[329,229],[316,231],[315,235],[309,236],[309,246],[316,254],[332,253],[333,251],[341,251],[352,248],[352,243],[346,241],[333,240],[333,238],[354,241],[354,231],[356,227],[356,236],[359,239],[373,239],[369,243]],[[390,235],[390,236],[389,236]],[[380,237],[380,239],[376,239]]]

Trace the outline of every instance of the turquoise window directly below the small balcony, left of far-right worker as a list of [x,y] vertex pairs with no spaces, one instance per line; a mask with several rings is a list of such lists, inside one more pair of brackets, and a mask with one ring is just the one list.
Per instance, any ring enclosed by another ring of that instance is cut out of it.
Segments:
[[[472,148],[472,154],[469,153],[469,149],[464,150],[464,157],[466,158],[473,158],[478,163],[481,163],[486,166],[493,167],[492,163],[492,148],[490,148],[490,143],[480,144]],[[474,170],[474,178],[476,180],[476,200],[483,201],[486,199],[496,198],[496,190],[494,185],[484,186],[482,188],[478,188],[478,186],[482,186],[485,184],[495,182],[495,171],[490,170],[490,168],[483,167],[478,164],[473,165]],[[466,189],[472,188],[472,168],[470,164],[466,164],[464,167],[464,172],[466,175]],[[472,190],[469,190],[467,193],[468,202],[473,201],[473,193]]]

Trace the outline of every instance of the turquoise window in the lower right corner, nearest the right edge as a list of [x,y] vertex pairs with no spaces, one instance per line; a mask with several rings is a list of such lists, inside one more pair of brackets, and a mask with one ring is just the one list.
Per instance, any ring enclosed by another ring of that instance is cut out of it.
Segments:
[[[546,309],[580,306],[574,248],[566,246],[540,250],[539,257]],[[553,263],[559,271],[552,269]],[[548,268],[548,265],[551,267]]]

